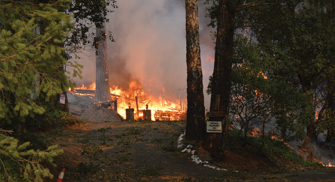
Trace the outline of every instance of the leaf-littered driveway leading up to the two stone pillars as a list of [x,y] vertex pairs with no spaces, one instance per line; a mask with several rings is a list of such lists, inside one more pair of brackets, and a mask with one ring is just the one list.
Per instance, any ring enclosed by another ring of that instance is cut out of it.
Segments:
[[255,175],[197,165],[190,154],[176,150],[185,125],[185,121],[118,121],[65,128],[60,137],[47,141],[64,150],[57,159],[55,179],[65,168],[64,181],[335,181],[334,170]]

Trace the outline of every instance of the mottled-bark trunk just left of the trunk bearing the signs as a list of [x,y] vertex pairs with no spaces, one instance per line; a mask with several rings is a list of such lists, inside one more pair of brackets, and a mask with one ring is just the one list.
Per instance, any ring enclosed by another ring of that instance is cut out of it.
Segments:
[[187,123],[186,138],[205,136],[205,106],[200,60],[198,1],[186,0]]

